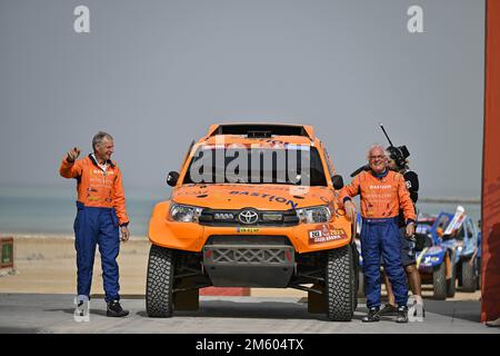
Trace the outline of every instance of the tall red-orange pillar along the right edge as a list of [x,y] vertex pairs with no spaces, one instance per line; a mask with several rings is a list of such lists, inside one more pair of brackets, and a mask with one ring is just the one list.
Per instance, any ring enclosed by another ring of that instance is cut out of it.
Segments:
[[481,322],[500,317],[500,1],[487,0]]

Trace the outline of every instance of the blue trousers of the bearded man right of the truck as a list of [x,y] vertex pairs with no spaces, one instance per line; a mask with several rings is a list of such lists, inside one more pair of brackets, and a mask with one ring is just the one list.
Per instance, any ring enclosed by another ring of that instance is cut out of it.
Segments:
[[407,305],[408,289],[401,265],[401,237],[397,219],[366,219],[361,227],[364,290],[369,308],[380,306],[380,258],[391,283],[396,303]]

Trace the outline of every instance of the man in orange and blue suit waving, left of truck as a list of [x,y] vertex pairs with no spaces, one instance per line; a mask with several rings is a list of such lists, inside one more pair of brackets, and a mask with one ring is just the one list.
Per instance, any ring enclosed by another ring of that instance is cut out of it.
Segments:
[[[119,269],[117,257],[121,240],[130,237],[129,218],[121,181],[121,171],[111,160],[113,138],[98,132],[92,139],[93,154],[76,160],[80,155],[73,148],[62,159],[60,174],[77,179],[78,201],[74,220],[74,247],[77,249],[78,306],[76,315],[83,316],[82,305],[90,298],[96,246],[99,245],[104,281],[107,316],[122,317],[129,314],[120,305]],[[80,308],[80,309],[79,309]]]

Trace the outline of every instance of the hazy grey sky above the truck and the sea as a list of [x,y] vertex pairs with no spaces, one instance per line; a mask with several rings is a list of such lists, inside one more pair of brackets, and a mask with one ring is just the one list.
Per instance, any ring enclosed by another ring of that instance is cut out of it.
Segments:
[[67,185],[64,152],[106,130],[126,189],[163,187],[242,120],[312,125],[349,180],[382,121],[421,196],[479,198],[483,34],[478,0],[0,0],[0,185]]

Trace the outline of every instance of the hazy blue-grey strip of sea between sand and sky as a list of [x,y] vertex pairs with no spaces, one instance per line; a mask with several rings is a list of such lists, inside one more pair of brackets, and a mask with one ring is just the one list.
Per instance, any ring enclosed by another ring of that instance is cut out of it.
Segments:
[[[148,235],[148,225],[156,204],[170,197],[171,188],[126,187],[127,210],[132,236]],[[433,197],[421,197],[421,200]],[[443,197],[439,197],[443,198]],[[447,198],[447,197],[444,197]],[[453,199],[454,197],[448,197]],[[72,236],[77,212],[74,184],[59,186],[0,185],[0,235]],[[474,197],[466,198],[473,201]],[[479,199],[478,199],[479,201]],[[419,202],[418,211],[436,215],[454,212],[462,205],[477,224],[481,205],[477,202]]]

